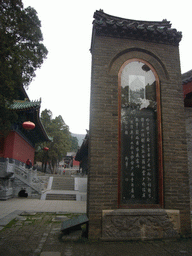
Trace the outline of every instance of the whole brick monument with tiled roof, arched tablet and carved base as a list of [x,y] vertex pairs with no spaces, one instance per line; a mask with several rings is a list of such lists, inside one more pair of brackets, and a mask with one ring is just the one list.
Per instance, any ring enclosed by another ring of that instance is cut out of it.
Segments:
[[181,32],[94,13],[89,238],[191,233]]

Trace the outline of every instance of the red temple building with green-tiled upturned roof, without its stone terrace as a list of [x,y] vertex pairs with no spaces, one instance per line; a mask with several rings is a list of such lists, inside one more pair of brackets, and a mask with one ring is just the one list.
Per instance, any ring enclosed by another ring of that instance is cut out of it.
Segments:
[[[0,158],[10,158],[25,163],[27,159],[34,164],[35,144],[49,141],[49,137],[40,121],[41,101],[30,101],[26,92],[22,90],[19,100],[10,106],[18,115],[16,123],[6,137],[0,135]],[[31,121],[35,124],[33,130],[26,130],[22,124]]]

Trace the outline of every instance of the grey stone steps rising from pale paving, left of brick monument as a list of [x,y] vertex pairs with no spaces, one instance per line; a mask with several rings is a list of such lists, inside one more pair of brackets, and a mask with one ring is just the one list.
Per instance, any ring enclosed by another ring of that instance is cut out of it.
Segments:
[[74,178],[59,176],[53,177],[51,190],[46,193],[46,200],[76,200]]

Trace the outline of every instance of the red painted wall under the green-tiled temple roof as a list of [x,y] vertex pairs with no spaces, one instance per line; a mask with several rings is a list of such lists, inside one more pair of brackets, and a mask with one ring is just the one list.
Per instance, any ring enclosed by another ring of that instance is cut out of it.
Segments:
[[35,149],[17,132],[11,131],[5,139],[4,158],[13,158],[26,162],[29,158],[34,163]]

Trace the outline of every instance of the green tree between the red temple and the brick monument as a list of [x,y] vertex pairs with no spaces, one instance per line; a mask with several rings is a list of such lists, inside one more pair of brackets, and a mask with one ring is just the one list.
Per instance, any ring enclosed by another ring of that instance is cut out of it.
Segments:
[[[49,151],[46,153],[40,150],[36,160],[42,161],[42,159],[45,159],[49,162],[52,172],[55,172],[58,162],[63,159],[71,148],[71,133],[62,116],[59,115],[53,119],[50,110],[45,109],[42,111],[41,121],[49,136],[52,137],[52,141],[40,146],[40,148],[48,147]],[[43,164],[45,166],[44,162]]]

